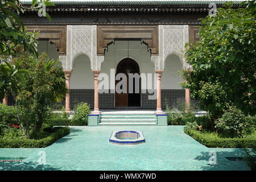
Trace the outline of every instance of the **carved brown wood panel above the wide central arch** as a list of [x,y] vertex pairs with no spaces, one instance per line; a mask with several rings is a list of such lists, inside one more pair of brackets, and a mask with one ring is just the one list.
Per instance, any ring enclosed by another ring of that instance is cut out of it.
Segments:
[[148,46],[151,55],[158,55],[158,26],[97,26],[97,55],[104,55],[114,40],[138,39]]

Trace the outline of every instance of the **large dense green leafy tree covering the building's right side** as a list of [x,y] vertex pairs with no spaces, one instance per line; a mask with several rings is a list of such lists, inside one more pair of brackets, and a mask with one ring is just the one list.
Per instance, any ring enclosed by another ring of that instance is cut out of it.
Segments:
[[187,44],[184,56],[192,71],[184,70],[187,82],[181,85],[213,118],[232,104],[245,114],[256,113],[255,10],[255,1],[238,9],[226,3],[216,16],[201,19],[199,42]]

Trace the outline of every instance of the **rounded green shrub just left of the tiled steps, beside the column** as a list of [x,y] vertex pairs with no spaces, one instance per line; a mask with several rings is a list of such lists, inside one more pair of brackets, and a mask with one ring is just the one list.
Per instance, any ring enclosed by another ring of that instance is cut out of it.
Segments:
[[71,119],[72,126],[84,126],[88,123],[87,115],[90,114],[90,106],[85,103],[81,102],[76,105],[74,109],[74,115]]

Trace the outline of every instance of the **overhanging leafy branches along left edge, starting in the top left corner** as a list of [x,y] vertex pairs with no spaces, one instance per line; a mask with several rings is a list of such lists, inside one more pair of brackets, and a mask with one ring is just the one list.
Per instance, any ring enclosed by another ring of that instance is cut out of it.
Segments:
[[[46,6],[55,6],[49,0],[40,0]],[[27,32],[23,22],[20,20],[20,12],[24,13],[23,9],[38,9],[36,6],[38,0],[33,0],[31,7],[24,7],[19,0],[0,0],[0,99],[5,96],[18,93],[20,86],[24,85],[24,74],[26,70],[19,70],[21,62],[14,64],[7,63],[10,55],[17,55],[19,52],[28,51],[37,55],[38,42],[36,36],[38,31]],[[46,13],[46,17],[51,20],[51,17]]]

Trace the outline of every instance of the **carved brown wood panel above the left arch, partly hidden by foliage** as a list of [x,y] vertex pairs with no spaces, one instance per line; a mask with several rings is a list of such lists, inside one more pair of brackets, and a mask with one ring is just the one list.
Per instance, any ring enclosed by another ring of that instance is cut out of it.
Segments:
[[43,24],[25,24],[27,31],[40,31],[39,40],[49,40],[56,45],[59,55],[67,55],[67,26],[43,25]]

